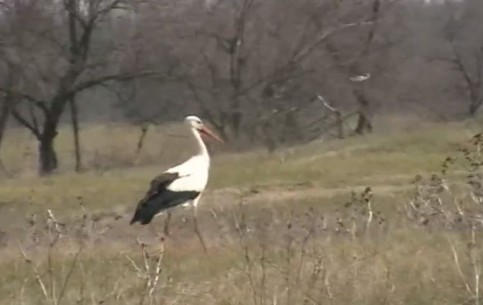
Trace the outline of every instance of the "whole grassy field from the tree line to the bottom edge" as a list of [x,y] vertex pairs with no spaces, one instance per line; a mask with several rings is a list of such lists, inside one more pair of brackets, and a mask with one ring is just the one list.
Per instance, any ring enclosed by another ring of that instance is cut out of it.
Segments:
[[57,142],[61,169],[42,179],[35,142],[12,130],[0,152],[0,299],[479,304],[483,158],[481,143],[469,140],[481,127],[380,128],[386,132],[273,155],[214,146],[198,214],[206,253],[189,209],[173,211],[165,238],[163,216],[128,225],[150,179],[189,154],[180,153],[190,139],[179,126],[149,131],[139,153],[135,128],[85,127],[80,174],[71,170],[66,128]]

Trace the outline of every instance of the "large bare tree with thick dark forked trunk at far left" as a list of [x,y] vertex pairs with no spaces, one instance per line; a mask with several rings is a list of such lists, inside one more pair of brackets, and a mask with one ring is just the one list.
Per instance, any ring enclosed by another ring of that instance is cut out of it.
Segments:
[[115,42],[102,39],[109,17],[116,11],[122,14],[129,4],[128,0],[12,1],[12,13],[23,6],[32,18],[24,16],[30,25],[19,33],[24,45],[13,46],[17,56],[22,57],[23,70],[29,74],[21,75],[15,90],[0,90],[24,104],[12,114],[39,141],[40,174],[48,174],[58,166],[54,149],[58,125],[66,105],[70,101],[73,105],[80,92],[153,74],[119,70],[119,58],[112,46]]

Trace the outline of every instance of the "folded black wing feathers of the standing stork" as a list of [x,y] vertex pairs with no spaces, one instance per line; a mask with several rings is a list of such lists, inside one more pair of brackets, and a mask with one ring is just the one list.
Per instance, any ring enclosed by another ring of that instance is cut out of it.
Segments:
[[151,186],[139,201],[131,224],[139,221],[145,225],[151,222],[154,216],[168,208],[195,199],[199,192],[196,191],[171,191],[167,187],[176,179],[178,173],[163,173],[151,181]]

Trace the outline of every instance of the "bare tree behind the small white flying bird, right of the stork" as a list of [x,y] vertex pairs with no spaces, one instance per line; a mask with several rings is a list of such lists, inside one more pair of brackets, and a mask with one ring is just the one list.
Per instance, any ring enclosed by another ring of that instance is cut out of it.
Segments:
[[387,74],[394,74],[396,61],[391,53],[404,38],[403,23],[397,14],[401,8],[400,2],[367,2],[359,11],[371,21],[366,31],[357,36],[334,37],[325,44],[357,108],[354,134],[372,132],[372,117],[379,103],[370,92],[383,88],[380,83],[389,78]]

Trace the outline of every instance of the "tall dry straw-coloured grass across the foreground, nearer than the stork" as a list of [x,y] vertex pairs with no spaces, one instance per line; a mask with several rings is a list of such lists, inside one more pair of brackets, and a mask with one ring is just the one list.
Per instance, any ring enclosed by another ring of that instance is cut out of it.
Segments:
[[[470,230],[434,230],[391,212],[391,208],[402,208],[404,198],[375,198],[372,208],[383,212],[369,228],[366,213],[357,216],[361,210],[356,207],[340,208],[348,196],[266,205],[247,199],[246,206],[218,205],[214,214],[208,210],[201,214],[200,225],[209,245],[206,255],[180,212],[173,237],[165,243],[153,303],[475,303],[473,261],[467,245]],[[353,202],[361,207],[357,200]],[[122,228],[126,224],[111,225],[108,233],[101,234],[104,226],[99,226],[90,231],[95,237],[85,239],[72,228],[63,228],[66,233],[50,253],[46,229],[43,223],[36,224],[36,230],[44,234],[39,233],[37,241],[26,237],[21,243],[38,266],[47,297],[32,267],[12,244],[2,255],[6,275],[0,285],[2,299],[12,304],[139,304],[146,279],[130,262],[140,269],[144,266],[135,237],[143,236],[150,245],[153,265],[160,243],[145,228],[119,236],[120,231],[127,231]],[[76,258],[81,240],[88,243]],[[476,249],[481,257],[479,243]],[[49,257],[53,262],[49,263]],[[58,300],[64,285],[61,302],[52,301]],[[54,297],[51,287],[55,287]]]

